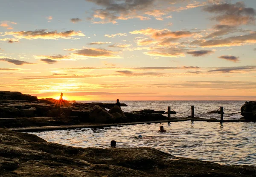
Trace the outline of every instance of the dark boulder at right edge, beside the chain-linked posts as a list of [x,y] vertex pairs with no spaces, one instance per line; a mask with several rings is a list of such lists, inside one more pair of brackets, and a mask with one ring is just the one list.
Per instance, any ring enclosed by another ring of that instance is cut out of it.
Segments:
[[245,119],[256,120],[256,101],[245,102],[241,107],[241,115]]

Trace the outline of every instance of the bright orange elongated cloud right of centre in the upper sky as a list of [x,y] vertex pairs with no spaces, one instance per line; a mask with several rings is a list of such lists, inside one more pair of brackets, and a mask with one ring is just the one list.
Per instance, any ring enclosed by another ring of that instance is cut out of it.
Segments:
[[168,29],[141,29],[130,31],[131,34],[143,34],[146,36],[151,36],[152,38],[161,38],[161,37],[173,37],[173,38],[180,38],[180,37],[190,37],[193,35],[190,31],[169,31]]

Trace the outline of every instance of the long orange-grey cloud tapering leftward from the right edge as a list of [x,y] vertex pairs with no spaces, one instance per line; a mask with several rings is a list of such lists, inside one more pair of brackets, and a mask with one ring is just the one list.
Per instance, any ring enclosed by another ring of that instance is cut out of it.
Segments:
[[212,40],[195,40],[191,45],[198,45],[201,47],[229,47],[229,46],[243,46],[247,44],[256,43],[256,32],[247,35],[233,36]]

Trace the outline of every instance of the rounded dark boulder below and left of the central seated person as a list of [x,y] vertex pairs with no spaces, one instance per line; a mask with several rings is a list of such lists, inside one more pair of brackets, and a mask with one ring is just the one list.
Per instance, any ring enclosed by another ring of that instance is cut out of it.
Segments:
[[113,123],[116,120],[112,114],[109,114],[105,109],[98,105],[93,107],[89,118],[95,123]]

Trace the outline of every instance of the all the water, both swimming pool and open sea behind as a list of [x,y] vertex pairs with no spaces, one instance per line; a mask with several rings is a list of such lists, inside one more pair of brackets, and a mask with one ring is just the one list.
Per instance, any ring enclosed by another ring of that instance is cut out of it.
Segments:
[[[195,116],[217,119],[220,117],[219,114],[204,113],[223,106],[225,120],[242,117],[232,112],[240,112],[244,101],[121,101],[121,103],[128,105],[122,107],[123,111],[142,109],[167,111],[167,106],[171,106],[173,110],[181,113],[188,111],[193,105],[202,112],[195,110]],[[186,117],[190,114],[191,111],[188,111],[185,114],[171,116]],[[158,132],[159,126],[164,126],[167,133]],[[30,133],[48,142],[68,146],[109,148],[111,140],[116,140],[117,147],[152,147],[177,157],[195,158],[225,165],[256,166],[255,122],[184,121]],[[143,138],[138,138],[140,134]]]

